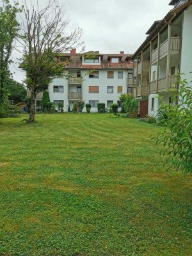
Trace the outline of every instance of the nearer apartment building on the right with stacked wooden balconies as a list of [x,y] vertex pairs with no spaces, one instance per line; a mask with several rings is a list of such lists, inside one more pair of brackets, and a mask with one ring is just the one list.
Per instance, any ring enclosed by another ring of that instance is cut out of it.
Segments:
[[140,102],[140,116],[157,115],[159,96],[172,102],[177,74],[192,80],[192,1],[172,0],[173,9],[147,31],[147,38],[133,54],[133,95]]

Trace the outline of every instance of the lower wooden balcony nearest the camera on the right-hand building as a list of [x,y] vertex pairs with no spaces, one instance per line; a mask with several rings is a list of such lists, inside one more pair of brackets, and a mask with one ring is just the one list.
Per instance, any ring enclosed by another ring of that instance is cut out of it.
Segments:
[[177,84],[177,81],[177,75],[159,78],[158,81],[150,83],[150,93],[168,92],[168,89],[173,88],[173,84]]

